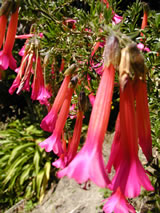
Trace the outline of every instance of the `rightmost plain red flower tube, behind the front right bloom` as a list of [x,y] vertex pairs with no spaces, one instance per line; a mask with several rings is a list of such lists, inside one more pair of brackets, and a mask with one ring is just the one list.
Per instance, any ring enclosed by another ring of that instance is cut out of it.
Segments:
[[136,80],[136,117],[138,126],[139,144],[147,160],[152,158],[152,138],[151,125],[149,119],[149,109],[147,101],[146,82],[140,79]]

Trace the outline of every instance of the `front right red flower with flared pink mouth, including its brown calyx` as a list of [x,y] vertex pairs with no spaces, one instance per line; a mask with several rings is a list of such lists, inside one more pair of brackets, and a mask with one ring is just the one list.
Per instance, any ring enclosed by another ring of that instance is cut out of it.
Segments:
[[[135,45],[136,46],[136,45]],[[132,58],[131,52],[138,57],[139,53],[131,45],[129,51],[125,48],[122,52],[120,68],[120,153],[119,165],[116,174],[112,180],[112,189],[116,191],[120,188],[124,196],[132,198],[140,194],[141,186],[146,190],[151,191],[153,187],[148,176],[138,158],[138,127],[135,108],[134,81],[130,79],[129,72],[135,72],[139,67],[144,67],[144,64],[136,64],[141,61],[141,58]],[[133,48],[133,49],[132,49]],[[137,47],[136,47],[137,48]],[[128,56],[126,62],[125,56]],[[129,63],[129,64],[127,64]],[[141,61],[142,63],[142,61]],[[127,70],[129,67],[129,70]],[[143,70],[144,71],[144,70]],[[136,73],[141,73],[142,70],[137,70]],[[130,74],[131,75],[131,74]]]

